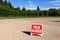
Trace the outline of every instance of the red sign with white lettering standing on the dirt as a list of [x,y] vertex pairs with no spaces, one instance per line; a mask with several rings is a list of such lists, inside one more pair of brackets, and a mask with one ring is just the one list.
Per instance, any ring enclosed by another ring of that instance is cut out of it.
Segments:
[[42,24],[32,24],[31,35],[32,34],[39,34],[42,36]]

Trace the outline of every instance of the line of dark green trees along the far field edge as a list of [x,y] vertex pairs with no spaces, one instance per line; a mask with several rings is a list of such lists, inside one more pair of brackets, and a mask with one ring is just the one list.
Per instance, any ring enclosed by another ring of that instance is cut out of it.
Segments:
[[50,8],[48,10],[40,10],[39,6],[35,10],[26,10],[25,7],[20,9],[14,8],[7,0],[0,0],[0,17],[38,17],[38,16],[60,16],[60,8]]

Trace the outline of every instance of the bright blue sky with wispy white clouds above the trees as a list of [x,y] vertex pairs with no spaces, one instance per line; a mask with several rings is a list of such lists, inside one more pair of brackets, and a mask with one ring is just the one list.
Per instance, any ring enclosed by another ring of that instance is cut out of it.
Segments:
[[25,7],[26,9],[36,9],[37,6],[42,10],[49,8],[60,8],[60,0],[7,0],[14,7]]

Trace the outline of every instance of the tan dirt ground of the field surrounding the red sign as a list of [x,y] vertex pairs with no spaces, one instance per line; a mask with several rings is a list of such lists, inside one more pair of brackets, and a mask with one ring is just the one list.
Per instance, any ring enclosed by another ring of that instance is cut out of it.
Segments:
[[[43,24],[43,37],[29,35],[32,24]],[[60,40],[60,18],[0,20],[0,40]]]

